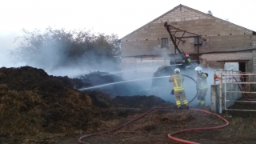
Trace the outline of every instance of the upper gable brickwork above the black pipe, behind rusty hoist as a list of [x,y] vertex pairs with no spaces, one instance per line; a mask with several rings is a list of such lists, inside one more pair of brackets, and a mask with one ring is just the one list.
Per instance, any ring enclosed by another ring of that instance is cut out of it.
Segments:
[[[186,6],[178,6],[122,38],[122,56],[174,54],[174,45],[171,41],[167,50],[160,47],[161,38],[170,38],[164,22],[169,22],[171,26],[178,29],[202,35],[206,41],[199,48],[201,52],[256,47],[256,38],[252,30]],[[197,52],[194,38],[183,40],[186,42],[180,42],[178,45],[180,49],[188,53]]]

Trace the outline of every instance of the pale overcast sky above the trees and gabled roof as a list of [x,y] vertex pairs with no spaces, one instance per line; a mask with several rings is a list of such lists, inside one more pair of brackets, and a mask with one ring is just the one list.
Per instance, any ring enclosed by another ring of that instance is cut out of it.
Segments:
[[256,0],[0,0],[0,61],[22,29],[86,29],[122,38],[179,4],[256,31]]

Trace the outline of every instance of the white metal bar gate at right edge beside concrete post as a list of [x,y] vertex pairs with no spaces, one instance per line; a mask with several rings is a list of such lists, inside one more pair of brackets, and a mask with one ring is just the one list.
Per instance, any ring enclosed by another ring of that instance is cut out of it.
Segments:
[[[256,103],[256,74],[245,74],[241,71],[218,70],[214,71],[214,84],[219,80],[219,113],[222,110],[256,111],[243,109],[230,109],[234,102]],[[224,83],[224,98],[222,97],[222,84]],[[237,100],[241,98],[241,100]],[[224,102],[222,102],[224,101]],[[256,105],[255,105],[256,107]]]

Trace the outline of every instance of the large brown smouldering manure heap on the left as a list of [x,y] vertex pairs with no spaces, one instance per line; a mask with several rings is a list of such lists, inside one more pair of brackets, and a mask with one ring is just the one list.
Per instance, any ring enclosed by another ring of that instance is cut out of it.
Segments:
[[[95,73],[94,77],[97,75],[105,82],[117,81],[113,75],[102,78],[100,73]],[[0,142],[33,143],[44,142],[47,138],[78,136],[107,129],[110,120],[134,113],[126,108],[143,111],[169,105],[155,96],[116,96],[100,89],[74,89],[94,86],[95,83],[88,80],[92,79],[90,76],[82,78],[83,81],[55,77],[30,66],[2,67]]]

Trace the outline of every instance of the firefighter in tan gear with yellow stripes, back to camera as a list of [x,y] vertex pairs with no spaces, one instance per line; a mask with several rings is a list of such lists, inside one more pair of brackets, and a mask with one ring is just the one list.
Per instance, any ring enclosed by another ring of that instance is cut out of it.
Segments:
[[169,82],[173,82],[174,96],[175,96],[176,105],[177,105],[178,109],[181,108],[181,106],[182,106],[181,98],[183,100],[184,105],[186,105],[186,109],[189,109],[189,102],[186,99],[186,94],[185,94],[184,86],[183,86],[184,78],[183,78],[182,74],[179,74],[180,71],[181,70],[176,68],[174,70],[175,74],[170,76]]

